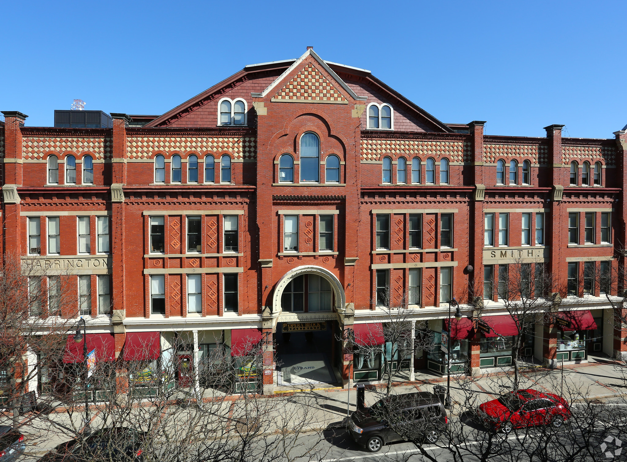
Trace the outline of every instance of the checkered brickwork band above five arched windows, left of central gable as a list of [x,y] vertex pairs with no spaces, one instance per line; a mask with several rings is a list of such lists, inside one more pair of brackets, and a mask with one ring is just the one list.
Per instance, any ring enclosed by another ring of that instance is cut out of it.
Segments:
[[148,159],[155,150],[183,154],[196,151],[228,151],[235,159],[255,160],[256,141],[253,137],[129,137],[127,155],[130,159]]

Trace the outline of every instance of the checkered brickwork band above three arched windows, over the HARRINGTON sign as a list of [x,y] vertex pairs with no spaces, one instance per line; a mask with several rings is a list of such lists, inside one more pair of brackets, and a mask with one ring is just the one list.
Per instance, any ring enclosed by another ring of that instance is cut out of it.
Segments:
[[22,152],[24,159],[43,159],[48,151],[56,151],[60,154],[73,151],[76,154],[89,153],[96,159],[109,159],[111,157],[112,139],[102,138],[51,138],[51,137],[24,137],[22,139]]

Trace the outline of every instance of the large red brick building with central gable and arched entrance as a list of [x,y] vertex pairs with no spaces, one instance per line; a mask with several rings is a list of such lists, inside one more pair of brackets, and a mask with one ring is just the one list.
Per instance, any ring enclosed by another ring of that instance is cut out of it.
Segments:
[[[498,280],[521,262],[581,312],[570,330],[530,320],[524,355],[627,350],[605,288],[584,277],[623,263],[624,130],[484,135],[484,122],[442,123],[311,49],[245,66],[160,117],[112,113],[113,129],[3,113],[3,251],[46,268],[44,290],[65,278],[76,302],[61,315],[115,339],[103,344],[117,360],[137,359],[140,341],[161,360],[184,354],[171,345],[186,336],[198,364],[261,339],[266,391],[306,382],[293,366],[309,363],[312,380],[377,380],[379,360],[342,355],[343,330],[361,335],[406,301],[438,342],[455,297],[469,317],[485,299],[482,317],[506,332]],[[511,363],[507,335],[456,340],[460,370]],[[441,354],[407,360],[444,370]]]

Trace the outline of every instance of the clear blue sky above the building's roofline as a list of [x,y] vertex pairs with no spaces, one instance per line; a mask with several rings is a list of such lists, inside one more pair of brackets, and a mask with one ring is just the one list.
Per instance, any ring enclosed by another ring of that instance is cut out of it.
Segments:
[[0,110],[162,114],[246,64],[366,68],[443,122],[613,137],[627,123],[625,4],[100,1],[1,4]]

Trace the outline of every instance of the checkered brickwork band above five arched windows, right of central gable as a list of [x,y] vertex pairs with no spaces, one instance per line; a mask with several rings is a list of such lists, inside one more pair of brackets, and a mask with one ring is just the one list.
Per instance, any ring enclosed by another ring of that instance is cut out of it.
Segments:
[[461,141],[426,140],[361,140],[361,159],[379,160],[382,154],[419,155],[421,157],[449,157],[452,162],[462,162],[465,146]]

